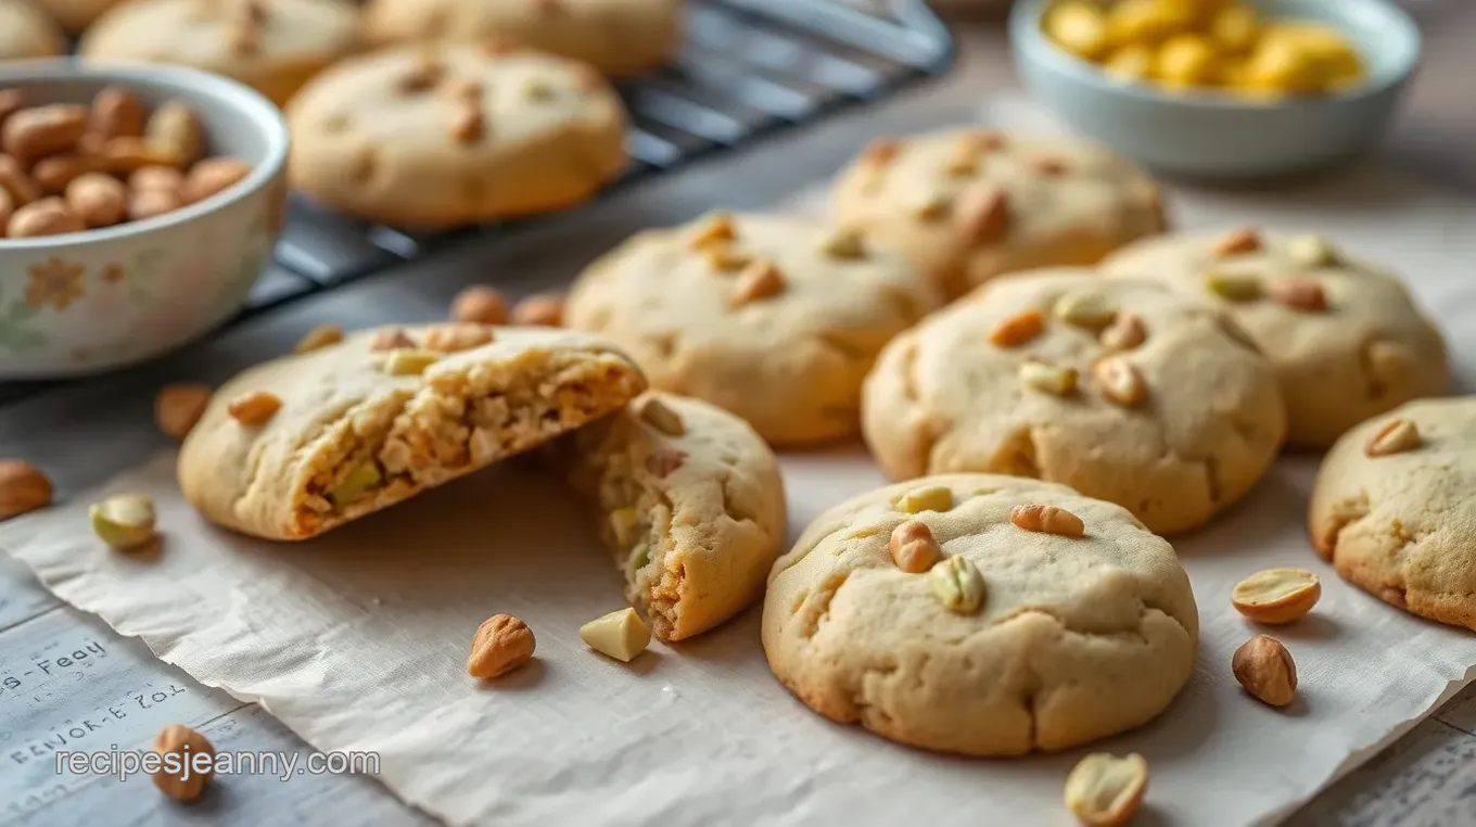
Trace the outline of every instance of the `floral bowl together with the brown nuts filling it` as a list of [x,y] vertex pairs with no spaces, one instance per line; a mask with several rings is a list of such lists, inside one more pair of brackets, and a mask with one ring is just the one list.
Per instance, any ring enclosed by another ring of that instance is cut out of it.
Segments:
[[140,362],[229,319],[269,260],[288,133],[180,66],[0,65],[0,380]]

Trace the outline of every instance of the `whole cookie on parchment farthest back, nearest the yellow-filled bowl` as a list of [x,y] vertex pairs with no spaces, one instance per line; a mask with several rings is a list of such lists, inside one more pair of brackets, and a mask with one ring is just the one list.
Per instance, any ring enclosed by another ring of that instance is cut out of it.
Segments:
[[1160,198],[1095,145],[974,128],[872,142],[837,179],[832,213],[956,297],[999,273],[1095,264],[1165,229]]

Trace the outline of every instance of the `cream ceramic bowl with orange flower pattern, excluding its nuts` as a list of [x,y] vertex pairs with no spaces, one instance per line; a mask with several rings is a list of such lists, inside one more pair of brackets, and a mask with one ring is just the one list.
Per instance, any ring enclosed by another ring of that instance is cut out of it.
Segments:
[[288,133],[267,99],[179,66],[0,64],[0,89],[84,103],[120,84],[189,102],[241,183],[174,213],[83,233],[0,238],[0,380],[55,378],[158,356],[229,319],[269,260],[286,204]]

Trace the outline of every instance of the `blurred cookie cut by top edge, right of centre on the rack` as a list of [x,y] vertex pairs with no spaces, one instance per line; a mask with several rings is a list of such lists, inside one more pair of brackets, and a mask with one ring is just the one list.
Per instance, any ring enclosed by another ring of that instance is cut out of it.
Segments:
[[680,18],[680,0],[370,0],[363,28],[375,44],[493,41],[633,75],[676,50]]

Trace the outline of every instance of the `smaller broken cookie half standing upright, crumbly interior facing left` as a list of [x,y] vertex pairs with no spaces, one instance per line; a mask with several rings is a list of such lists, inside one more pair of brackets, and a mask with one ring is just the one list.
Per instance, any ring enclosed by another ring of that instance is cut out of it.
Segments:
[[649,391],[558,447],[655,636],[691,638],[763,594],[784,542],[784,478],[747,422]]

